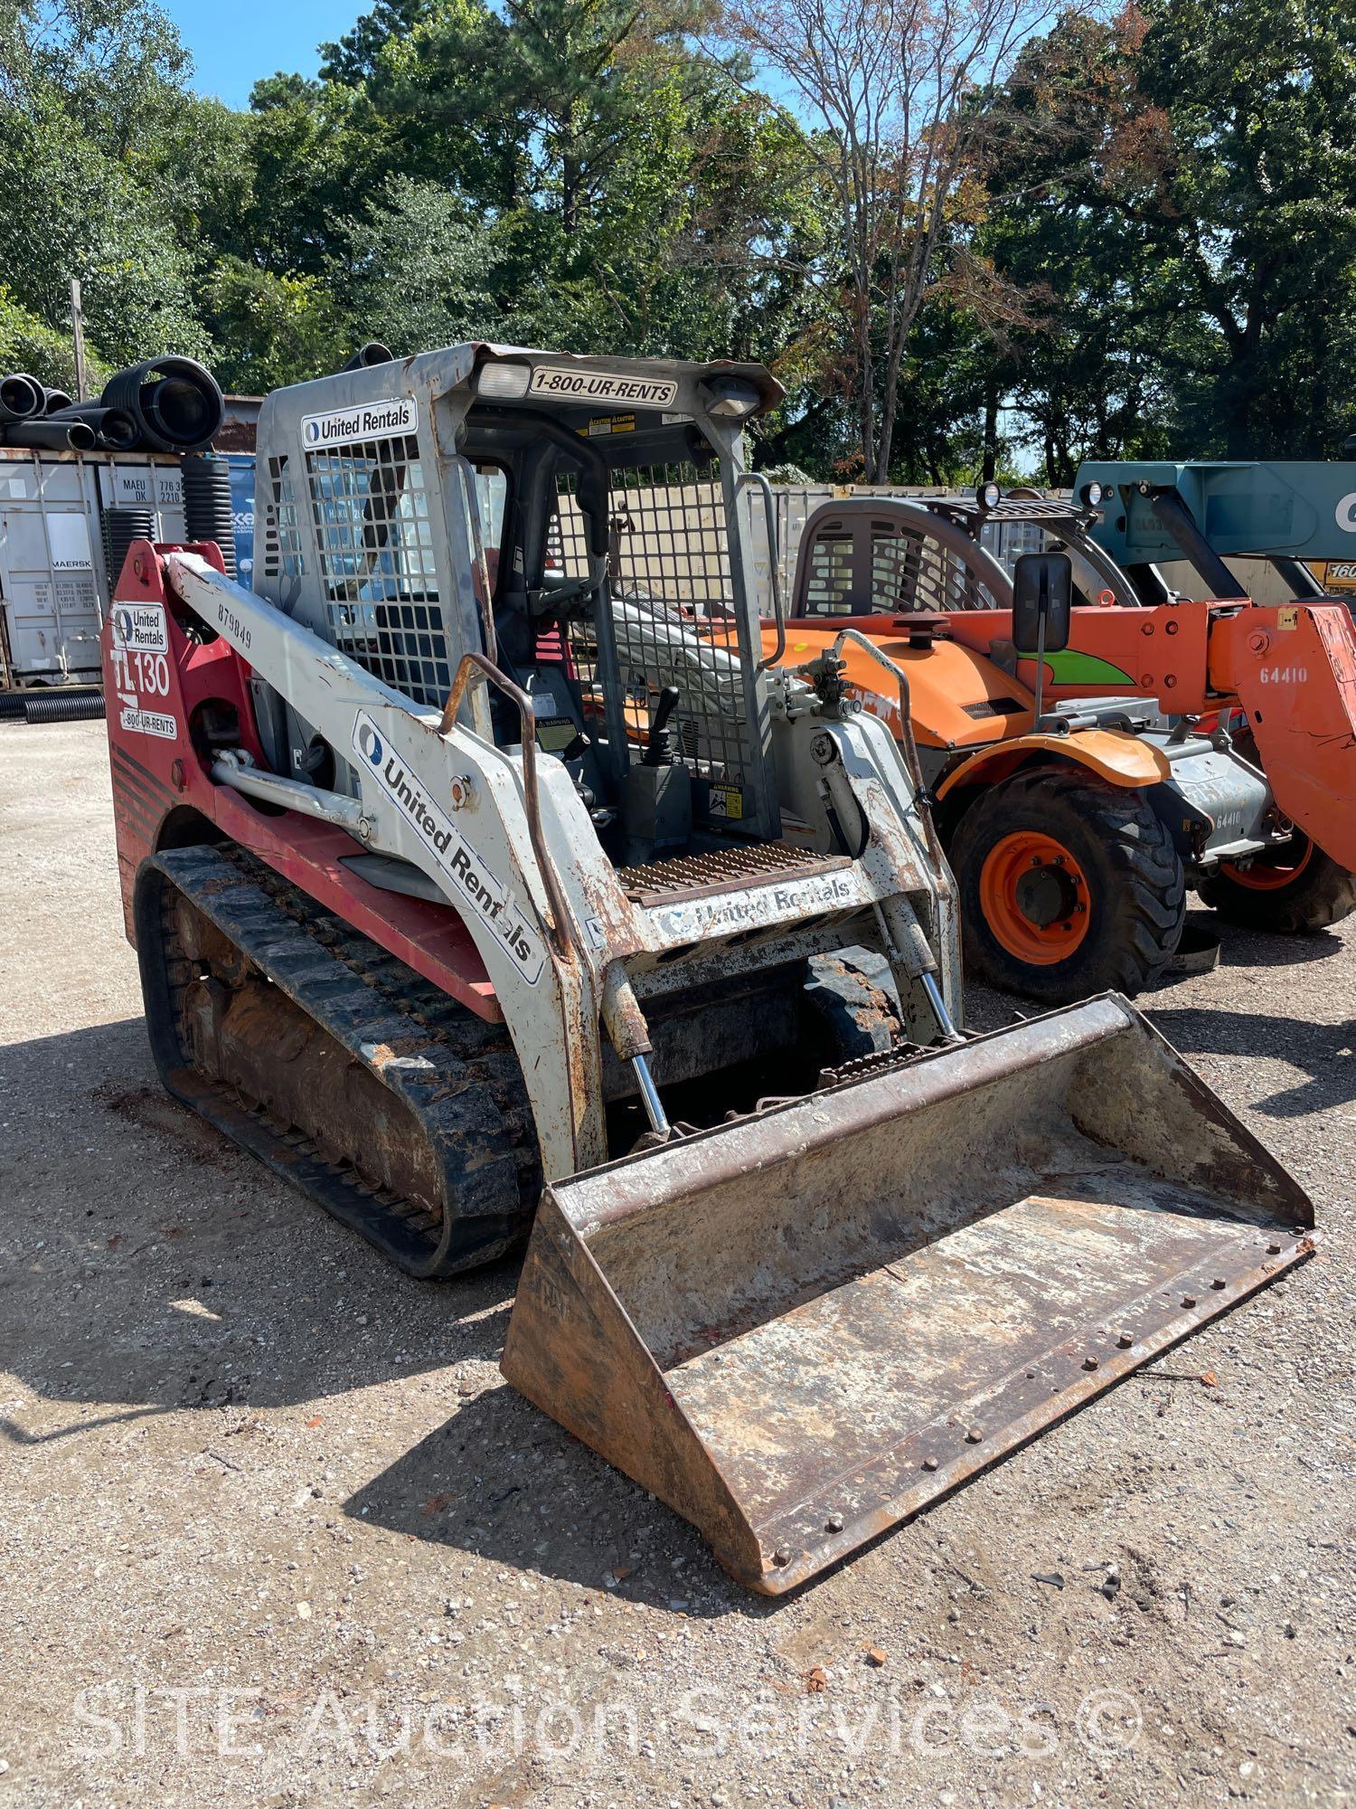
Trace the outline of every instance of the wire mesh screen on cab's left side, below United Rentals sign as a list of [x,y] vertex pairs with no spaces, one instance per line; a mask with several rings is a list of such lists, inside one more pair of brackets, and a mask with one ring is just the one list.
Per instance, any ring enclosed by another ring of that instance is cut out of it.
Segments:
[[452,666],[418,441],[324,447],[306,454],[306,474],[334,646],[439,707]]

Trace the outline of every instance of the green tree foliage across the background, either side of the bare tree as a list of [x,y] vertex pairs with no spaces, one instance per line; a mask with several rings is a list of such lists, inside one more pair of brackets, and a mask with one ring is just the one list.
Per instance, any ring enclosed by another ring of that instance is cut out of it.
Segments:
[[[250,391],[365,336],[761,358],[788,396],[758,458],[861,476],[835,139],[698,49],[707,4],[378,0],[237,112],[150,0],[0,0],[0,365],[69,385],[72,275],[96,367],[175,349]],[[895,481],[1336,452],[1351,0],[1070,13],[964,109],[897,384],[873,346]]]

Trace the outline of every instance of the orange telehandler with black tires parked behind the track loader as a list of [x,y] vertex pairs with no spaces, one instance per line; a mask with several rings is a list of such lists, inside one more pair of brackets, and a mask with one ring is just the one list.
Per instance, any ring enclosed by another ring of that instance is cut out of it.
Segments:
[[[911,718],[969,964],[1047,1004],[1154,984],[1188,888],[1287,932],[1356,904],[1347,604],[1144,608],[1096,519],[1031,494],[824,503],[781,637],[781,664],[835,648],[868,711]],[[991,521],[1061,552],[1009,577],[980,543]]]

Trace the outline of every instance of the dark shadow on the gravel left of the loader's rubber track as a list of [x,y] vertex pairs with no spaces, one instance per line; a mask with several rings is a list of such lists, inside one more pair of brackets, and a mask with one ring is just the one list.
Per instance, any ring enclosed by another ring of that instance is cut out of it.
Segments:
[[400,1274],[170,1100],[141,1018],[0,1049],[0,1369],[63,1409],[0,1449],[497,1360],[515,1257]]

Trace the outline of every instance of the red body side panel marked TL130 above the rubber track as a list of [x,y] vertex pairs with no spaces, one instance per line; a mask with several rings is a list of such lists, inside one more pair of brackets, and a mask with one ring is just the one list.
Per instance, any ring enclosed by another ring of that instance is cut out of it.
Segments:
[[[210,722],[230,722],[233,715],[231,742],[260,767],[266,762],[250,668],[224,640],[190,640],[175,617],[183,606],[165,588],[161,554],[179,550],[132,545],[99,637],[128,941],[137,867],[166,843],[195,839],[197,812],[434,986],[497,1022],[494,986],[452,906],[369,886],[340,865],[344,856],[362,852],[344,830],[293,812],[266,816],[240,792],[212,781],[199,753],[208,745]],[[215,546],[186,550],[221,570]]]

